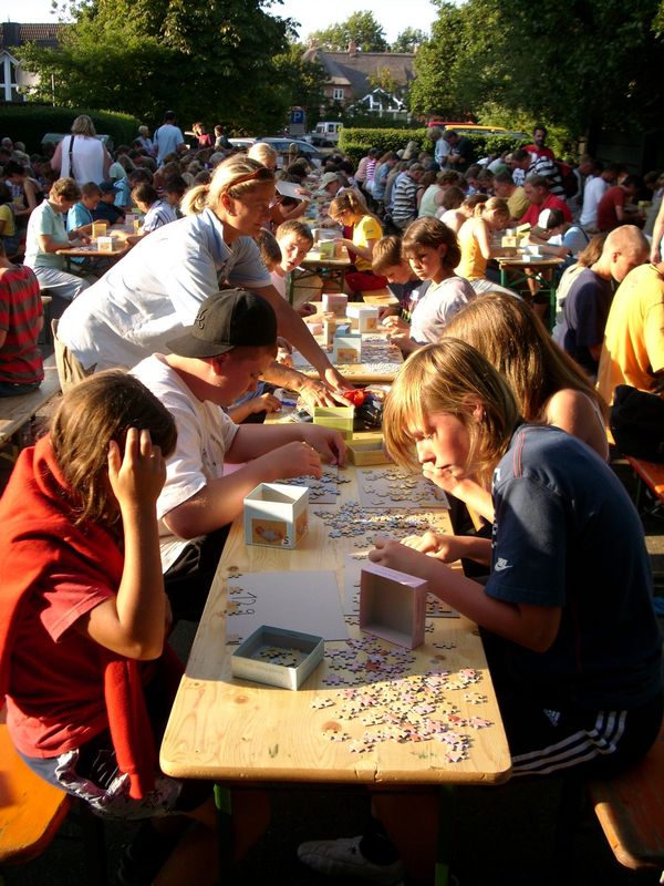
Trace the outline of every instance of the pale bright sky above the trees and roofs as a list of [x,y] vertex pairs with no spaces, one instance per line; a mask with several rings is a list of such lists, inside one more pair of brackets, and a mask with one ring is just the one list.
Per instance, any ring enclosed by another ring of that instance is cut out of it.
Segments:
[[[397,3],[394,0],[334,0],[331,3],[284,0],[283,3],[276,2],[268,11],[270,14],[301,22],[301,41],[312,31],[345,21],[353,12],[373,12],[374,19],[383,27],[388,43],[405,28],[428,31],[436,18],[436,7],[430,0],[408,0],[407,3]],[[14,0],[0,0],[0,19],[19,22],[58,21],[51,12],[51,0],[21,0],[20,4]]]

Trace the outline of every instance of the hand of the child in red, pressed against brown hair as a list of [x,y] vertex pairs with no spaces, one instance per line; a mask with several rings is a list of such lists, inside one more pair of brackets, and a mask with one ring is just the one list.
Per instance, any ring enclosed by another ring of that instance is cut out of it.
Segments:
[[154,507],[166,480],[166,462],[159,446],[153,446],[149,431],[129,427],[124,456],[112,440],[108,444],[108,482],[121,509],[141,505]]

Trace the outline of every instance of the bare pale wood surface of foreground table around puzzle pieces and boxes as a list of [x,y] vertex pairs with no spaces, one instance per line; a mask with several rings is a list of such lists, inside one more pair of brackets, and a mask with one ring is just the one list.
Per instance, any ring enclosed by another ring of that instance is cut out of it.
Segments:
[[[257,782],[346,786],[492,784],[508,779],[510,755],[481,640],[465,618],[428,618],[430,630],[425,633],[425,643],[413,651],[407,673],[385,678],[387,684],[401,689],[404,681],[416,681],[432,671],[458,676],[470,669],[466,674],[478,678],[467,692],[447,693],[461,718],[459,722],[479,717],[488,723],[486,728],[460,730],[469,738],[469,750],[457,762],[450,762],[449,748],[439,740],[417,744],[386,740],[366,753],[351,752],[346,741],[330,741],[330,731],[339,730],[347,730],[361,741],[359,736],[366,729],[360,720],[340,721],[345,687],[329,683],[334,669],[333,650],[343,647],[343,642],[325,645],[324,661],[298,691],[231,676],[234,647],[226,645],[227,631],[234,630],[232,624],[229,626],[232,617],[227,615],[229,577],[278,570],[288,581],[288,574],[297,570],[333,570],[341,593],[344,557],[360,556],[371,548],[366,542],[356,547],[354,536],[334,532],[331,535],[326,525],[344,503],[357,501],[355,468],[344,468],[343,473],[351,482],[340,487],[339,504],[310,504],[309,533],[294,550],[247,546],[241,519],[234,523],[164,735],[160,764],[166,773],[212,779],[236,787]],[[413,508],[406,509],[413,513]],[[376,522],[385,515],[384,511],[364,513]],[[438,530],[452,532],[447,511],[430,515]],[[380,526],[376,534],[381,534]],[[353,639],[366,637],[356,624],[349,626],[349,632]],[[395,649],[390,643],[382,645],[386,650]],[[331,701],[331,707],[312,707],[318,700]]]

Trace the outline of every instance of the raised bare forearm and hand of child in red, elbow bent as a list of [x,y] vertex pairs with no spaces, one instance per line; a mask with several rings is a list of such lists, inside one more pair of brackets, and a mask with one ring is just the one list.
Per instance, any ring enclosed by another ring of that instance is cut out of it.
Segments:
[[155,659],[165,638],[166,595],[159,556],[156,501],[166,466],[148,431],[129,429],[124,457],[108,450],[108,481],[124,527],[125,558],[117,596],[96,606],[76,629],[106,649],[133,659]]

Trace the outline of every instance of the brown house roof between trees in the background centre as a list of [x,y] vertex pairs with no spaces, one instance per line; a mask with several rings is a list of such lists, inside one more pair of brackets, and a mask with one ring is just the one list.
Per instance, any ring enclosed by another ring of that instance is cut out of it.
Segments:
[[367,78],[385,68],[397,86],[406,86],[415,79],[415,54],[412,52],[325,52],[320,47],[310,47],[302,58],[320,62],[329,80],[338,84],[349,83],[359,96],[366,95],[372,89]]

